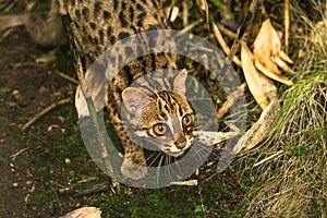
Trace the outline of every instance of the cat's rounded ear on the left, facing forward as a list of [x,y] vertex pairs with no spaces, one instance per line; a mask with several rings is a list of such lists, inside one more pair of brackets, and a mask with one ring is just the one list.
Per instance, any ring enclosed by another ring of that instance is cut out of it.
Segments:
[[122,99],[125,106],[125,109],[130,113],[138,114],[142,107],[144,106],[147,95],[135,87],[128,87],[122,92]]

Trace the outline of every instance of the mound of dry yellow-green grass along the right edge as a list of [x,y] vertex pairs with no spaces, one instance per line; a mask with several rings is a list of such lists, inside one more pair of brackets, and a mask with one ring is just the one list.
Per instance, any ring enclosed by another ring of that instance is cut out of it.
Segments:
[[295,48],[305,49],[295,61],[298,81],[284,94],[269,138],[243,156],[256,162],[245,173],[254,181],[243,202],[249,204],[245,217],[327,215],[327,22],[322,1],[310,4],[320,8],[316,17],[323,21],[312,22],[295,1],[290,8],[292,21],[302,21],[291,25],[290,38],[296,36]]

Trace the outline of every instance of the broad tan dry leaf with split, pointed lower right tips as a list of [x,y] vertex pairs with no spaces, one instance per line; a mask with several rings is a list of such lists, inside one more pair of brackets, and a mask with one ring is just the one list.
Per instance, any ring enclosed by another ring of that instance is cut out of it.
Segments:
[[[266,76],[287,85],[293,84],[292,81],[282,76],[278,70],[278,65],[282,69],[287,69],[283,61],[289,63],[293,63],[293,61],[281,51],[281,43],[278,33],[275,31],[268,19],[263,23],[254,41],[253,53],[255,66]],[[289,73],[293,74],[291,70],[287,70]]]

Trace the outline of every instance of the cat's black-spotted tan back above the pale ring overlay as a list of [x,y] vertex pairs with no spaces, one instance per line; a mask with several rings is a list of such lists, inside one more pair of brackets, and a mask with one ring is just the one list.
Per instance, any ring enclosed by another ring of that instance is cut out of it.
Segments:
[[70,0],[74,37],[90,58],[134,34],[167,28],[158,0]]

